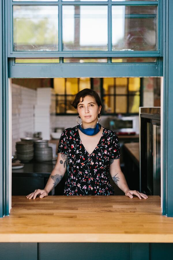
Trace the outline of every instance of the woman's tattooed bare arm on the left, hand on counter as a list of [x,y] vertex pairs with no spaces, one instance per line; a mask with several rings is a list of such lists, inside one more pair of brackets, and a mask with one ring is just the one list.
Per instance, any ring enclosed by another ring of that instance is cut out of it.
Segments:
[[40,198],[48,196],[48,193],[62,180],[65,171],[68,166],[68,155],[63,153],[58,153],[57,162],[52,170],[49,179],[46,183],[44,190],[35,190],[34,192],[28,194],[26,197],[28,199],[35,199],[37,195],[40,195]]

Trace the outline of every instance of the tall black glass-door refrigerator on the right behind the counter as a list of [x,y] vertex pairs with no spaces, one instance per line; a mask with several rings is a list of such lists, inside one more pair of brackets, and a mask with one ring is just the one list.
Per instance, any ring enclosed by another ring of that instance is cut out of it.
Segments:
[[140,107],[140,192],[161,196],[160,107]]

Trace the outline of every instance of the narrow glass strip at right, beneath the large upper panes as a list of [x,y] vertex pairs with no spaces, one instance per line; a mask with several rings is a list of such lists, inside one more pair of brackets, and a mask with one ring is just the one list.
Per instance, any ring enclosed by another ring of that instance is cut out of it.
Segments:
[[112,58],[112,62],[156,62],[155,57]]

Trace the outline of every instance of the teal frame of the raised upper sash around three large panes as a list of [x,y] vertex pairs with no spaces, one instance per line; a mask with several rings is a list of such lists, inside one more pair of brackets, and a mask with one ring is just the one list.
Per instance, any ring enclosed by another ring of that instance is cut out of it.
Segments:
[[[59,51],[13,51],[13,6],[14,5],[57,5],[59,10],[58,15],[58,34],[59,34]],[[108,51],[63,51],[62,44],[62,6],[63,5],[107,5],[108,6]],[[126,6],[157,6],[157,51],[112,51],[112,6],[126,5]],[[108,57],[108,63],[111,63],[111,57],[162,57],[163,46],[161,42],[162,35],[162,16],[161,16],[162,0],[158,1],[117,1],[111,0],[105,2],[80,2],[70,1],[65,2],[59,0],[58,2],[7,2],[7,16],[8,16],[8,57]]]

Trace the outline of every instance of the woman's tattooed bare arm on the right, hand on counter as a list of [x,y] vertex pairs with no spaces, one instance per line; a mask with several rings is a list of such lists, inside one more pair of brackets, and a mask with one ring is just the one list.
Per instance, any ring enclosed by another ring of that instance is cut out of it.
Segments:
[[110,175],[116,185],[125,193],[125,196],[133,198],[132,195],[138,196],[140,199],[148,198],[147,195],[138,192],[137,190],[130,190],[127,181],[120,167],[120,159],[110,159]]

